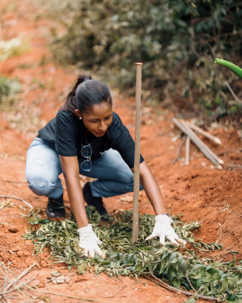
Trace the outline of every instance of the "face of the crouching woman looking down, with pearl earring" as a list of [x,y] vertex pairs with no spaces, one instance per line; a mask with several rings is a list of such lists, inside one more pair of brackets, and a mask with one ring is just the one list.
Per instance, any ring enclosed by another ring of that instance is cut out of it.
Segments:
[[88,113],[81,113],[78,109],[75,113],[95,137],[102,137],[113,120],[113,109],[109,103],[94,105]]

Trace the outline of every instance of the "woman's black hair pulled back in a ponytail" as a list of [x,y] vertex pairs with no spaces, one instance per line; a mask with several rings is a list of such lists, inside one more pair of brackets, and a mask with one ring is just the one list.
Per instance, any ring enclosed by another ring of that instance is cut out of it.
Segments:
[[110,90],[106,84],[92,79],[89,74],[80,74],[72,91],[67,95],[63,110],[75,114],[75,110],[79,109],[80,112],[87,113],[94,105],[102,103],[112,105]]

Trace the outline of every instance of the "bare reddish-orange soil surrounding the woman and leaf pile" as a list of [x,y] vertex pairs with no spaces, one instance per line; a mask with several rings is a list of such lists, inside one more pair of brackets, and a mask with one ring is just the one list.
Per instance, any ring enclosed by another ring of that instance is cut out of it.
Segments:
[[[12,5],[12,6],[11,6]],[[8,58],[1,62],[1,73],[9,77],[18,77],[23,85],[21,98],[24,106],[22,108],[13,108],[12,112],[6,111],[0,113],[0,178],[1,180],[21,181],[23,183],[0,181],[0,195],[14,195],[24,198],[30,202],[35,209],[44,209],[47,198],[35,196],[27,186],[25,181],[25,156],[28,146],[36,136],[38,128],[45,122],[53,118],[63,103],[63,96],[68,92],[71,83],[76,78],[76,71],[71,68],[54,67],[49,62],[46,65],[38,65],[42,56],[50,57],[47,48],[48,38],[44,37],[43,32],[50,31],[56,24],[51,19],[33,16],[38,13],[30,1],[1,1],[0,9],[2,14],[0,22],[2,24],[1,39],[9,40],[25,33],[25,38],[29,39],[31,50],[24,52],[20,56]],[[15,22],[15,20],[17,20]],[[20,68],[19,66],[27,63],[32,64],[30,68]],[[44,84],[45,88],[33,85],[33,78]],[[115,95],[115,93],[113,93]],[[129,128],[134,137],[134,100],[114,98],[115,112],[121,117],[123,123]],[[26,117],[31,113],[39,113],[36,122],[26,124]],[[27,113],[27,114],[26,114]],[[22,122],[13,123],[12,116],[20,115]],[[220,238],[220,226],[222,225],[222,235],[220,243],[225,248],[231,247],[234,251],[239,251],[236,255],[241,258],[242,241],[242,170],[234,168],[229,171],[228,164],[241,165],[241,153],[230,152],[223,155],[223,170],[211,168],[211,163],[200,152],[197,152],[195,146],[191,145],[191,164],[189,166],[180,165],[177,161],[171,166],[172,160],[177,153],[178,145],[181,139],[172,142],[172,135],[178,134],[178,129],[172,124],[172,112],[164,111],[161,107],[147,108],[142,110],[141,127],[141,151],[142,155],[149,163],[152,173],[160,185],[167,210],[171,214],[183,215],[184,221],[202,221],[202,227],[195,232],[195,237],[203,239],[204,242],[214,242]],[[242,147],[242,142],[238,139],[235,129],[217,128],[211,131],[213,135],[219,137],[222,141],[221,146],[217,146],[210,141],[202,138],[206,144],[215,152]],[[181,149],[181,155],[185,156],[185,149]],[[61,177],[64,183],[63,177]],[[83,182],[83,180],[81,180]],[[124,195],[125,196],[125,195]],[[112,214],[119,210],[129,210],[132,208],[132,202],[120,201],[120,197],[104,199],[108,211]],[[65,204],[69,206],[67,193],[64,191]],[[0,198],[0,202],[5,201]],[[16,200],[12,200],[16,202]],[[229,205],[229,211],[221,212],[226,205]],[[20,205],[20,206],[19,206]],[[68,274],[65,264],[49,265],[48,256],[50,251],[47,248],[38,258],[32,256],[33,246],[31,241],[24,241],[21,234],[25,234],[25,228],[28,220],[21,216],[27,214],[29,208],[24,209],[24,204],[20,203],[14,207],[9,207],[0,212],[0,257],[7,265],[11,262],[9,268],[16,273],[22,272],[29,265],[37,261],[37,267],[26,276],[26,279],[36,275],[36,280],[30,285],[37,285],[37,289],[42,291],[51,291],[55,293],[68,294],[78,297],[103,298],[110,297],[121,290],[113,299],[106,302],[183,302],[185,296],[169,292],[151,281],[141,277],[139,283],[135,284],[135,279],[121,277],[120,279],[109,278],[106,274],[94,276],[88,270],[85,277],[76,275],[75,269],[71,270],[70,284],[61,285],[47,284],[47,276],[50,276],[52,268]],[[140,213],[151,213],[154,211],[144,193],[141,192]],[[238,215],[236,215],[238,214]],[[234,217],[234,215],[236,215]],[[45,214],[41,212],[42,218]],[[11,254],[10,251],[14,252]],[[214,251],[212,255],[217,255]],[[206,257],[206,253],[202,255]],[[217,255],[214,260],[231,260],[231,254]],[[142,283],[146,282],[147,287]],[[26,294],[32,296],[34,302],[40,302],[44,294],[29,292]],[[52,302],[80,302],[79,299],[71,299],[48,295]],[[20,297],[20,296],[19,296]],[[46,298],[45,298],[46,300]]]

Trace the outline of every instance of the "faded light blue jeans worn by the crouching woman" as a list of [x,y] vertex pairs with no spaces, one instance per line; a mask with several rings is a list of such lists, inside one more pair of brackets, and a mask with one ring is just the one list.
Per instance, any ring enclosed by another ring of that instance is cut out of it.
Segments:
[[[108,198],[134,190],[134,175],[118,151],[111,148],[99,159],[91,160],[91,171],[81,169],[82,161],[83,159],[79,161],[80,174],[98,179],[91,182],[94,197]],[[34,138],[27,151],[25,168],[31,191],[38,196],[59,198],[63,193],[59,178],[61,173],[59,155],[55,148],[41,138]],[[139,184],[139,190],[142,189]]]

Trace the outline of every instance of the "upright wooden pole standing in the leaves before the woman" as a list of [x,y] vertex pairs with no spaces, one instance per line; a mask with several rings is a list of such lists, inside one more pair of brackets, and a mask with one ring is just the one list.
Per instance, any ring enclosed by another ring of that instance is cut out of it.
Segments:
[[141,126],[141,79],[142,64],[136,63],[135,93],[135,152],[134,152],[134,196],[133,196],[133,229],[132,243],[138,241],[139,231],[139,163],[140,163],[140,126]]

